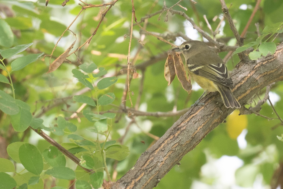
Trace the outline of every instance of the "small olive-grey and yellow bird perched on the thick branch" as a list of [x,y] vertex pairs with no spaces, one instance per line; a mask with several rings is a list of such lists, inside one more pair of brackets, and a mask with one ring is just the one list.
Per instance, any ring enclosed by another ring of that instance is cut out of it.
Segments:
[[188,74],[205,90],[201,97],[207,92],[218,91],[227,108],[241,107],[231,91],[233,81],[227,67],[207,44],[201,41],[186,41],[179,48],[172,50],[184,55]]

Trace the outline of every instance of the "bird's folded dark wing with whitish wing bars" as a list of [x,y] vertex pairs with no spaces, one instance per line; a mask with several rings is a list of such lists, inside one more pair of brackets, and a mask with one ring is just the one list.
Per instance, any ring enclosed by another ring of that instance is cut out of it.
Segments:
[[187,63],[188,69],[196,75],[210,79],[216,83],[231,88],[233,81],[230,78],[227,67],[224,63],[196,65]]

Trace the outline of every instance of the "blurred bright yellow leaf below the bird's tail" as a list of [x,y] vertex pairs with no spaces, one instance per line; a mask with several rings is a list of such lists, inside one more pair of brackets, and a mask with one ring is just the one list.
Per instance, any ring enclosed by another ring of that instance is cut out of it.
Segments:
[[226,119],[226,129],[228,135],[232,139],[237,139],[237,137],[241,134],[243,129],[247,127],[248,118],[246,115],[240,115],[240,111],[233,111]]

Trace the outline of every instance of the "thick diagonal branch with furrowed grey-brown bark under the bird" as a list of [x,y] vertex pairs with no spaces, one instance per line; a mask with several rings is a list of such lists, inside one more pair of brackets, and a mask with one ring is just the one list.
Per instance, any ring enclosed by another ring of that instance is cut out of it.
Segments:
[[[265,86],[283,80],[283,43],[275,54],[258,61],[240,63],[231,74],[233,94],[242,108]],[[176,165],[183,156],[234,110],[226,108],[220,95],[210,93],[201,102],[181,116],[173,126],[140,158],[121,179],[112,183],[112,189],[151,189]]]

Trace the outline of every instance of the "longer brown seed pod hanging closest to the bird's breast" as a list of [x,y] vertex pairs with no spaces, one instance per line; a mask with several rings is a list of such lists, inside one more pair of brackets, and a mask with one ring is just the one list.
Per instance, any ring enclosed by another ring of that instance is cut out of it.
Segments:
[[182,84],[182,87],[190,94],[192,90],[192,84],[190,77],[186,75],[186,70],[181,59],[181,56],[177,52],[173,52],[173,60],[175,65],[175,72]]

